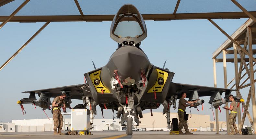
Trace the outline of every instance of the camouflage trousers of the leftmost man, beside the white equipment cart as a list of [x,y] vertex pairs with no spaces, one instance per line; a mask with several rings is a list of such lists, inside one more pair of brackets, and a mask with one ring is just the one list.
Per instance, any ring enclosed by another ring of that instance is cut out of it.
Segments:
[[53,111],[53,130],[61,130],[63,126],[63,117],[61,114],[61,110]]

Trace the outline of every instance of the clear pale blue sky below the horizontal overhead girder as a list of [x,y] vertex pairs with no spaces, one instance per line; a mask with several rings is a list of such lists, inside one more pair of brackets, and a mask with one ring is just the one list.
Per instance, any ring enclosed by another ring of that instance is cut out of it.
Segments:
[[[232,35],[246,20],[214,21]],[[142,42],[141,48],[152,64],[162,67],[167,60],[165,67],[175,72],[173,82],[214,86],[212,53],[227,39],[226,36],[208,20],[145,23],[148,37]],[[0,64],[13,55],[43,24],[7,23],[1,28]],[[24,104],[27,114],[22,114],[16,102],[28,98],[29,94],[21,92],[82,84],[83,74],[94,69],[91,61],[94,61],[97,68],[104,66],[118,47],[109,37],[110,26],[111,22],[52,22],[45,27],[0,71],[0,122],[46,118],[41,108],[34,109],[32,104]],[[234,77],[233,70],[233,63],[228,63],[228,81]],[[217,87],[223,88],[223,84],[222,63],[217,63]],[[242,90],[241,93],[246,99],[248,90]],[[204,97],[204,100],[204,111],[192,109],[192,114],[208,114],[213,120],[209,97]],[[82,103],[82,100],[72,101],[72,107]],[[153,112],[162,112],[162,108]],[[95,118],[102,118],[99,107],[97,110]],[[49,110],[46,112],[52,117]],[[177,112],[177,109],[171,109],[171,112]],[[104,118],[112,118],[112,111],[104,110]],[[224,110],[219,114],[219,120],[225,120]],[[245,124],[249,125],[248,122]]]

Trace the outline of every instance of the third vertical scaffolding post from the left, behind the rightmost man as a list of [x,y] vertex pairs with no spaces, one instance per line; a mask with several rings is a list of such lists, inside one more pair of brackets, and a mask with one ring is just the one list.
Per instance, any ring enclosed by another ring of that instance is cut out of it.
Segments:
[[[236,79],[236,90],[239,90],[239,75],[238,75],[238,60],[237,60],[237,47],[235,46],[235,44],[233,43],[233,49],[234,49],[234,68],[235,68],[235,79]],[[242,58],[243,59],[243,58]],[[241,59],[241,60],[242,60]],[[241,63],[240,63],[241,65]],[[236,96],[239,96],[240,99],[242,99],[242,96],[240,95],[239,91],[236,91]],[[239,107],[237,108],[238,110],[238,113],[237,113],[237,118],[238,118],[238,127],[240,127],[241,125],[241,109],[240,109],[240,105]],[[240,134],[241,134],[241,131],[239,130]]]

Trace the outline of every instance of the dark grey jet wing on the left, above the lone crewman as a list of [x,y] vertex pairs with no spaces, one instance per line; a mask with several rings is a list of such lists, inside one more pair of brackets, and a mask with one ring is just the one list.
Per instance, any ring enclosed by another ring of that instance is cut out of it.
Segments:
[[[83,89],[81,89],[81,87]],[[35,93],[35,94],[38,94],[38,96],[40,96],[41,93],[44,93],[44,94],[47,94],[47,96],[49,97],[55,98],[62,94],[61,91],[68,92],[71,99],[79,99],[79,100],[82,99],[82,96],[86,96],[90,94],[90,89],[88,88],[87,83],[63,86],[63,87],[57,87],[57,88],[42,89],[42,90],[24,91],[22,93]]]

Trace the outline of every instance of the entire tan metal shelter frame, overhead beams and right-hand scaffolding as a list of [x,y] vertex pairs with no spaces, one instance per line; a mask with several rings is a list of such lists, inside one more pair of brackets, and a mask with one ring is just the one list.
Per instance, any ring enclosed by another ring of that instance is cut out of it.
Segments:
[[[14,0],[0,0],[0,7],[6,5]],[[80,15],[64,15],[64,16],[15,16],[15,14],[30,0],[25,0],[10,16],[0,16],[0,29],[7,22],[46,22],[29,40],[17,50],[16,53],[13,54],[1,67],[2,70],[23,48],[25,48],[29,42],[36,37],[42,30],[45,28],[50,22],[68,22],[68,21],[87,21],[87,22],[99,22],[99,21],[112,21],[114,15],[84,15],[83,11],[79,5],[77,0],[74,0]],[[256,32],[256,25],[253,26],[256,22],[256,11],[248,12],[242,5],[240,5],[236,0],[231,0],[237,7],[239,7],[242,12],[215,12],[215,13],[176,13],[180,4],[180,0],[177,0],[177,4],[173,13],[171,14],[143,14],[144,20],[180,20],[180,19],[208,19],[215,27],[217,27],[224,35],[226,35],[229,39],[224,42],[214,53],[213,53],[213,70],[214,70],[214,87],[217,87],[216,81],[216,62],[223,62],[223,70],[224,70],[224,82],[225,88],[227,88],[234,80],[235,84],[231,87],[236,86],[238,90],[237,96],[241,97],[239,89],[249,87],[250,91],[248,93],[246,104],[243,103],[243,108],[245,112],[243,113],[241,119],[240,106],[238,112],[238,123],[239,123],[239,131],[241,132],[241,128],[243,127],[245,117],[249,118],[249,121],[254,129],[254,134],[256,134],[256,102],[255,102],[255,86],[254,83],[254,73],[256,70],[253,70],[253,66],[256,64],[256,59],[253,57],[253,54],[256,53],[255,49],[252,49],[252,45],[256,44],[256,35],[252,36],[252,32]],[[241,26],[232,36],[229,36],[223,29],[221,29],[212,19],[238,19],[238,18],[248,18],[250,17],[243,26]],[[254,35],[254,34],[253,34]],[[245,36],[245,37],[244,37]],[[243,44],[242,48],[240,44]],[[249,49],[247,50],[247,45]],[[232,48],[230,50],[229,48]],[[237,57],[237,52],[239,53],[240,58]],[[223,54],[223,58],[219,59],[217,56]],[[234,59],[227,59],[226,54],[234,54]],[[249,58],[245,58],[247,55]],[[226,70],[226,62],[234,62],[235,67],[235,78],[227,84],[227,70]],[[239,70],[238,70],[238,62],[240,62]],[[246,63],[249,62],[249,63]],[[254,64],[253,64],[254,62]],[[249,68],[248,68],[249,65]],[[243,68],[244,66],[244,68]],[[241,76],[243,70],[246,70]],[[241,79],[248,75],[248,78],[244,80],[241,85],[239,85]],[[246,81],[250,80],[249,84],[246,84]],[[241,97],[242,98],[242,97]],[[252,109],[253,109],[253,119],[248,112],[250,99],[252,101]],[[226,104],[227,105],[227,104]],[[219,134],[219,122],[218,122],[218,110],[215,109],[216,113],[216,132]],[[228,113],[226,113],[226,117]],[[227,122],[228,123],[228,122]],[[255,125],[255,126],[254,126]],[[228,124],[227,124],[227,129]]]

